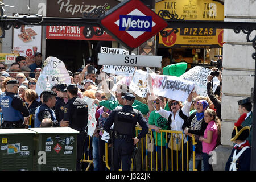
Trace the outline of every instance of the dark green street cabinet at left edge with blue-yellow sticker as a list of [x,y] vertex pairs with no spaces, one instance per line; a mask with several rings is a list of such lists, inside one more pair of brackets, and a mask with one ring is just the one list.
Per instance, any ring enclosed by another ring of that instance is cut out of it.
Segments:
[[18,171],[33,169],[33,137],[28,129],[0,129],[0,170]]

